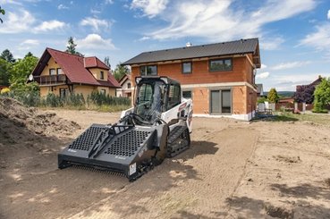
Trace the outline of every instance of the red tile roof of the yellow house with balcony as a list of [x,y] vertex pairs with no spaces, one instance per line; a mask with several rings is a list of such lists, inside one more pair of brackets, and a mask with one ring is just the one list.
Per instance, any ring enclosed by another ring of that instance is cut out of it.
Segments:
[[[97,57],[84,58],[79,55],[72,55],[62,51],[58,51],[52,48],[47,48],[44,54],[41,56],[40,60],[34,71],[33,75],[40,75],[46,64],[48,63],[50,57],[53,57],[55,62],[61,66],[63,73],[68,77],[72,83],[88,84],[95,86],[105,86],[120,88],[120,84],[114,79],[114,76],[109,72],[108,80],[97,80],[89,72],[89,68],[97,67],[101,69],[109,70],[105,63],[102,63]],[[88,60],[88,67],[85,68],[85,60]],[[94,63],[93,63],[94,62]]]

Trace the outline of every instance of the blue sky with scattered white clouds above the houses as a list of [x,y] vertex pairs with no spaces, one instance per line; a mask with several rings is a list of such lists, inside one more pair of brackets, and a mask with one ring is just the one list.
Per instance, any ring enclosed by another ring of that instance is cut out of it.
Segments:
[[141,52],[259,38],[264,90],[330,77],[329,0],[0,0],[0,52],[77,51],[114,69]]

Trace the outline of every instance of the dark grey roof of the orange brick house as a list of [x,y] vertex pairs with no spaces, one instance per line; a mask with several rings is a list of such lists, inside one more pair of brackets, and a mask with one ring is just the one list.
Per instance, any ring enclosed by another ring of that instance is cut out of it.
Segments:
[[254,54],[257,48],[258,38],[240,39],[224,43],[144,52],[122,64],[153,63],[218,55]]

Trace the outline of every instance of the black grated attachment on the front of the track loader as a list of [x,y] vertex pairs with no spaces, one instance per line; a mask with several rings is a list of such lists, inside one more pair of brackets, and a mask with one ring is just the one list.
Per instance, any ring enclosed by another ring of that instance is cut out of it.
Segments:
[[93,124],[58,154],[60,169],[82,165],[139,178],[165,159],[168,126]]

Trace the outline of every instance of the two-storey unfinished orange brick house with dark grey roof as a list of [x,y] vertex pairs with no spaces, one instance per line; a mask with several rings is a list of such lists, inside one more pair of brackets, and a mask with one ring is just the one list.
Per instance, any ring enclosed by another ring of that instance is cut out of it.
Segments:
[[[144,52],[123,63],[131,77],[168,76],[182,84],[196,116],[249,121],[257,105],[258,38]],[[134,81],[132,81],[134,83]]]

